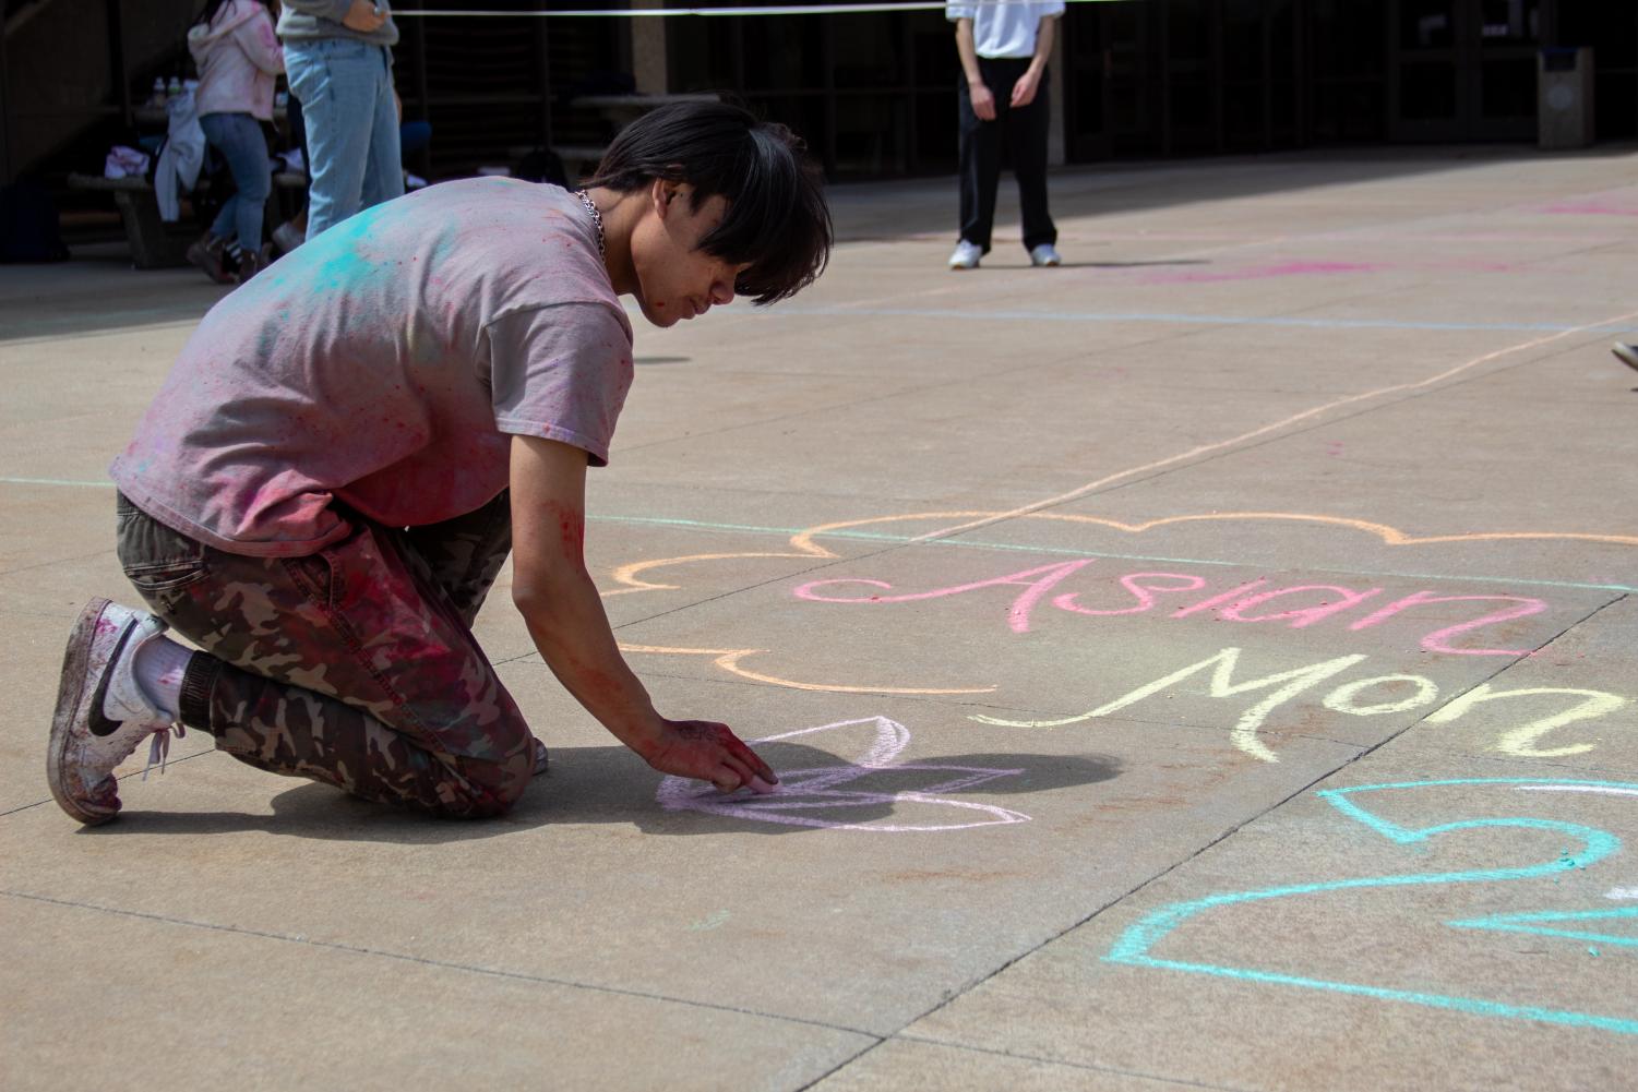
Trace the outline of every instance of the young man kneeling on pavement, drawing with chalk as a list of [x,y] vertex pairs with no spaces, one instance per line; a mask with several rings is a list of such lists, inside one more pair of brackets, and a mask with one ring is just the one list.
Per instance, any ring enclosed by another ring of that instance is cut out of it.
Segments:
[[688,103],[624,129],[586,190],[431,187],[224,298],[113,463],[152,614],[80,614],[52,796],[113,819],[115,766],[187,725],[365,799],[505,812],[545,761],[472,635],[508,552],[536,647],[593,717],[655,769],[767,791],[726,725],[662,717],[622,660],[581,555],[585,480],[632,378],[619,296],[657,326],[765,305],[829,247],[801,142]]

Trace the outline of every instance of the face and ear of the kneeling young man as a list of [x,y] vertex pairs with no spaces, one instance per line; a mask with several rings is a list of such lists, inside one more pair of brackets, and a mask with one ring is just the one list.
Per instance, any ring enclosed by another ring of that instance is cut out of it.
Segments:
[[699,249],[722,216],[727,200],[713,196],[693,210],[693,187],[655,180],[650,208],[632,231],[631,264],[637,273],[637,306],[655,326],[704,314],[734,300],[734,282],[750,265],[731,265]]

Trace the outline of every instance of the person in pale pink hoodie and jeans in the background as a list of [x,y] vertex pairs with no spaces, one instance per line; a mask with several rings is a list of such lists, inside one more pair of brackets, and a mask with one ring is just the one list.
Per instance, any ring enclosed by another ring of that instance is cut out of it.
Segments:
[[274,80],[285,70],[274,34],[277,2],[206,0],[188,29],[200,70],[193,93],[200,128],[228,160],[238,192],[187,255],[221,285],[246,282],[265,264],[262,216],[274,180],[260,123],[274,118]]

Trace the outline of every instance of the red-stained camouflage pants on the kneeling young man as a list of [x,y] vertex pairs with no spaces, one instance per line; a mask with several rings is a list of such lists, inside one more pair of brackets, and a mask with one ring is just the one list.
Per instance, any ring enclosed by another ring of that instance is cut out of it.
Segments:
[[182,722],[244,763],[365,799],[505,812],[534,738],[472,620],[511,548],[508,496],[429,527],[349,522],[310,557],[241,557],[118,498],[126,576],[210,653],[188,665]]

